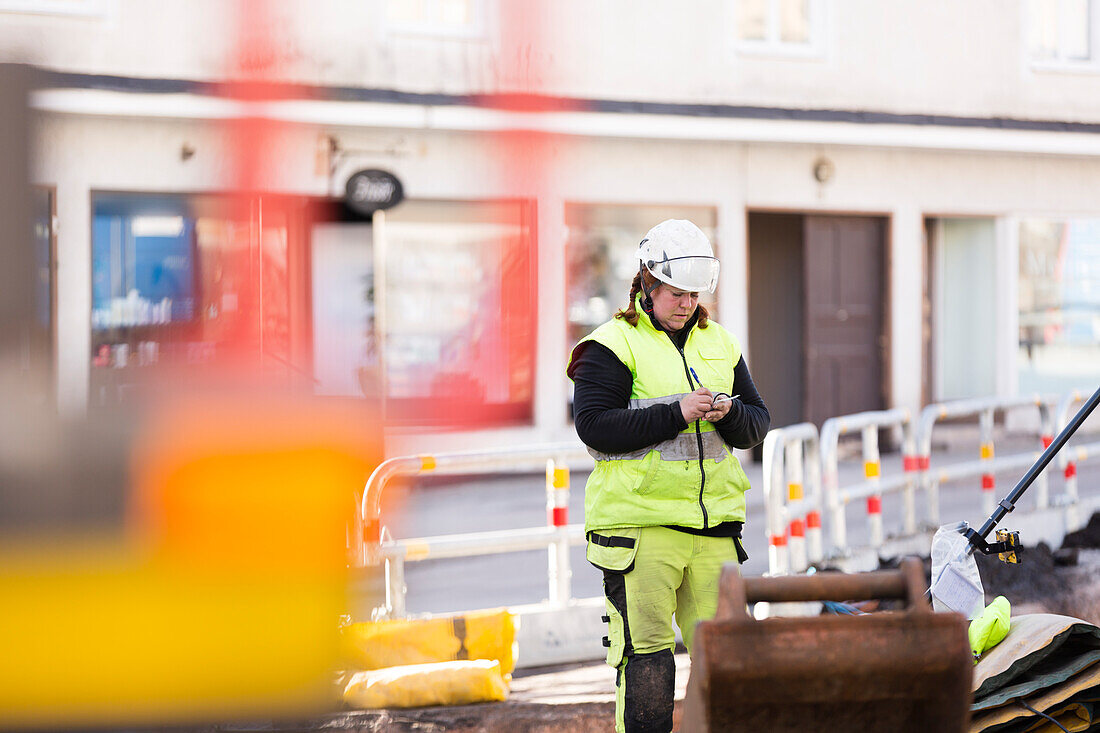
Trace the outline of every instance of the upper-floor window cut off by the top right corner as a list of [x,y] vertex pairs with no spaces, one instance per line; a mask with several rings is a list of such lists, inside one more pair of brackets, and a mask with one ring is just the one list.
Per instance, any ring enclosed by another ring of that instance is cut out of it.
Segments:
[[1027,55],[1033,64],[1097,66],[1098,0],[1027,0]]

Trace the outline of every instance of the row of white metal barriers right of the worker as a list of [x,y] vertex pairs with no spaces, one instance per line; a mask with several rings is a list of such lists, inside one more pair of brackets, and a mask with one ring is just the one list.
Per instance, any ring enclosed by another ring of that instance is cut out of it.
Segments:
[[[1072,392],[1060,402],[1053,397],[1031,395],[1021,397],[991,397],[964,400],[928,405],[921,412],[914,424],[908,411],[890,409],[859,413],[832,418],[822,425],[821,435],[812,424],[777,428],[769,433],[763,445],[763,489],[766,527],[769,544],[769,571],[781,575],[800,572],[810,562],[850,555],[848,546],[845,507],[853,501],[867,501],[867,521],[870,534],[869,548],[880,549],[886,540],[882,522],[882,496],[900,492],[903,494],[902,521],[894,539],[911,539],[934,529],[939,524],[938,489],[942,483],[967,478],[979,478],[982,492],[982,510],[991,513],[997,486],[996,474],[1010,470],[1024,470],[1050,445],[1053,436],[1070,420],[1071,407],[1088,397]],[[1055,409],[1057,405],[1057,409]],[[1034,406],[1040,411],[1040,444],[1035,451],[1023,451],[1001,458],[996,457],[993,427],[996,413],[1018,407]],[[978,417],[978,460],[954,463],[941,468],[932,466],[932,435],[937,422],[954,417]],[[878,449],[881,428],[900,429],[902,435],[902,473],[883,478]],[[860,436],[864,462],[864,479],[849,485],[839,482],[839,439],[844,435],[857,433]],[[814,471],[814,458],[820,455],[821,473]],[[1037,511],[1052,504],[1065,506],[1066,530],[1081,526],[1078,516],[1079,495],[1077,490],[1077,463],[1089,457],[1100,456],[1100,442],[1067,446],[1059,455],[1059,464],[1065,477],[1065,490],[1054,502],[1049,495],[1049,481],[1041,474],[1035,483],[1035,505]],[[810,461],[807,464],[805,461]],[[803,475],[807,478],[807,494],[802,494]],[[783,491],[784,484],[787,491]],[[811,522],[821,537],[821,488],[826,504],[831,546],[823,551],[814,541],[809,544],[809,554],[800,549],[803,532],[809,533]],[[920,522],[916,507],[916,489],[925,497],[924,522]],[[813,517],[813,519],[811,518]]]

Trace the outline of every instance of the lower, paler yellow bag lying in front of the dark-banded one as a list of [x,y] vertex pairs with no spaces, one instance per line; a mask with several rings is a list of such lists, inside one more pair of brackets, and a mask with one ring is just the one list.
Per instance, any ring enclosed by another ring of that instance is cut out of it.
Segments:
[[422,708],[502,701],[508,685],[490,659],[406,665],[352,675],[344,703],[352,708]]

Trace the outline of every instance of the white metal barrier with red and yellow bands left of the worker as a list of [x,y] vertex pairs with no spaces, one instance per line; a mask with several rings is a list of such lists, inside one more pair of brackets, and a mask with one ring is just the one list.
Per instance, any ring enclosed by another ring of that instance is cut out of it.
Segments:
[[[352,532],[350,555],[359,566],[385,567],[386,602],[383,616],[405,615],[405,564],[495,555],[522,550],[548,550],[549,605],[563,608],[572,597],[569,547],[584,541],[584,525],[569,521],[569,469],[566,462],[587,451],[580,444],[520,446],[496,450],[402,456],[383,461],[371,473],[360,499],[359,526]],[[546,467],[547,526],[502,529],[437,537],[394,539],[382,524],[382,495],[398,475],[421,475],[435,471],[491,472]]]

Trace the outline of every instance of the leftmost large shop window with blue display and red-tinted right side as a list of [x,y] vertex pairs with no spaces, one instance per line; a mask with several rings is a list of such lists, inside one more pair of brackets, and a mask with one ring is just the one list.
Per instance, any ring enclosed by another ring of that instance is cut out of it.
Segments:
[[95,194],[92,404],[161,365],[307,371],[289,352],[287,233],[274,199]]

